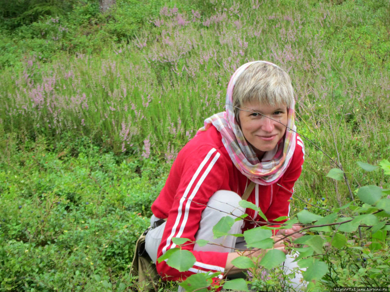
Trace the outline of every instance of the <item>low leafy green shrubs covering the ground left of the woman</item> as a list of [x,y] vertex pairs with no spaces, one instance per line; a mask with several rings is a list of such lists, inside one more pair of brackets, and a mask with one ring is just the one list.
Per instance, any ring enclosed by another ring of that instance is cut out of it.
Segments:
[[98,291],[94,274],[132,284],[133,247],[167,167],[65,135],[1,148],[0,158],[0,291]]

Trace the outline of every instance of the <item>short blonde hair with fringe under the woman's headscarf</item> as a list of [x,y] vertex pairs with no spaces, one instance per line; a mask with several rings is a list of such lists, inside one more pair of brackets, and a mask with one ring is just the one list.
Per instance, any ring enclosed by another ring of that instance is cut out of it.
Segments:
[[274,106],[294,100],[294,90],[287,72],[269,62],[256,62],[238,76],[233,88],[234,113],[246,102],[259,102]]

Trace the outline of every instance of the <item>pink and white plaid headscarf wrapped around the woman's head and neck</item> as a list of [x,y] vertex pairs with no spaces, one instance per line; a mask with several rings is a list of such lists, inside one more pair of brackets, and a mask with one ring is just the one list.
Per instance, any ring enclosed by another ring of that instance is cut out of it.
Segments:
[[[223,145],[239,171],[254,183],[271,185],[284,174],[293,157],[296,141],[296,133],[294,132],[296,131],[294,125],[295,102],[293,100],[288,107],[287,128],[284,138],[278,142],[273,151],[264,153],[264,157],[267,157],[268,161],[260,161],[255,151],[246,142],[241,128],[236,121],[233,107],[233,88],[238,76],[251,64],[256,62],[263,62],[278,67],[266,61],[249,62],[239,67],[227,85],[226,111],[207,118],[204,121],[204,127],[200,128],[198,132],[206,131],[211,125],[214,125],[221,133]],[[294,131],[289,129],[293,129]]]

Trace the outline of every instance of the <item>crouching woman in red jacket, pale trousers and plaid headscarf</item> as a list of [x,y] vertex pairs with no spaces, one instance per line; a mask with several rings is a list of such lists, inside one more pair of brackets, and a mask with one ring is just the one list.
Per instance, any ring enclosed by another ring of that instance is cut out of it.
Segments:
[[[261,249],[235,252],[245,249],[244,238],[214,239],[213,226],[224,216],[237,218],[245,213],[248,216],[234,223],[231,234],[264,225],[257,211],[239,206],[247,188],[252,189],[247,201],[260,207],[269,222],[289,215],[289,199],[304,159],[303,142],[294,132],[294,104],[291,79],[277,65],[255,61],[234,72],[227,86],[226,111],[207,118],[179,152],[152,204],[151,225],[161,225],[148,232],[145,248],[164,280],[183,281],[191,274],[208,271],[220,272],[221,279],[227,272],[230,276],[243,271],[232,265],[236,257],[264,254]],[[299,228],[274,234],[293,234]],[[174,237],[192,242],[206,239],[215,245],[184,245],[196,262],[188,271],[179,272],[166,261],[157,262],[176,247]],[[281,241],[274,248],[287,254]]]

